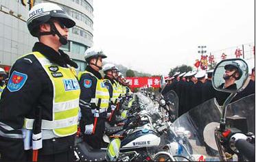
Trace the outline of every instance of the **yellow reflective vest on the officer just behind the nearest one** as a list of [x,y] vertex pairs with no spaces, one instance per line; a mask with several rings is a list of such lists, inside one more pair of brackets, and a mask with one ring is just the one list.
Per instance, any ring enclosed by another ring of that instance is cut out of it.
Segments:
[[[80,78],[83,74],[89,74],[89,75],[95,77],[95,75],[93,75],[93,73],[84,71],[84,72],[79,72],[78,80],[80,80]],[[106,86],[104,84],[104,80],[98,79],[97,77],[95,77],[95,78],[97,79],[97,84],[96,84],[96,89],[95,89],[96,90],[95,98],[91,98],[90,103],[95,103],[95,105],[97,106],[97,102],[98,102],[99,98],[102,98],[102,101],[100,103],[100,113],[103,113],[103,112],[107,111],[107,109],[108,109],[108,103],[109,103],[110,96],[109,96],[108,89],[106,88]],[[95,113],[95,110],[92,109],[91,112]]]

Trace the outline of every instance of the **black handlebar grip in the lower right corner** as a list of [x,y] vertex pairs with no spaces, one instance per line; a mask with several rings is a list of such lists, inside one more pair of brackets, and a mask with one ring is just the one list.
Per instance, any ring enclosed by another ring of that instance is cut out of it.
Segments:
[[235,142],[235,147],[249,161],[255,161],[255,145],[251,144],[245,139],[237,139]]

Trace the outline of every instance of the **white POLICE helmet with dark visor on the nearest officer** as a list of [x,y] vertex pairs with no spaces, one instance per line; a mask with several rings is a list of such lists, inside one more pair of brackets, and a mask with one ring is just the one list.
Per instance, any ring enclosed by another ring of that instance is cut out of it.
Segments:
[[[60,35],[54,23],[51,22],[52,18],[57,19],[67,28],[75,26],[75,21],[73,21],[67,12],[60,8],[60,6],[56,5],[55,3],[39,3],[35,5],[28,13],[27,28],[34,37],[57,34],[60,38],[60,42],[62,44],[67,44],[67,38]],[[40,32],[39,27],[42,23],[49,23],[49,25],[51,25],[51,31]]]

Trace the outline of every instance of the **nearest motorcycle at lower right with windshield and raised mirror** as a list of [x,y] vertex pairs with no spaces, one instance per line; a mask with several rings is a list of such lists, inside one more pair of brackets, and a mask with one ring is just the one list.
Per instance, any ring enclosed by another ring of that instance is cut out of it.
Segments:
[[[223,66],[237,60],[244,66],[243,76],[236,83],[237,90],[244,88],[248,70],[242,59],[227,59],[225,62],[220,62],[213,72],[213,82],[216,81],[213,85],[222,83],[220,78],[224,73]],[[216,88],[216,90],[219,89]],[[230,103],[231,99],[229,96],[224,105],[220,106],[216,98],[212,98],[179,117],[170,125],[168,133],[161,136],[165,141],[158,147],[148,148],[148,152],[151,150],[152,160],[255,160],[255,113],[251,113],[255,112],[255,94],[234,103]],[[186,146],[178,137],[186,138],[191,147]]]

